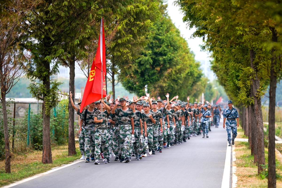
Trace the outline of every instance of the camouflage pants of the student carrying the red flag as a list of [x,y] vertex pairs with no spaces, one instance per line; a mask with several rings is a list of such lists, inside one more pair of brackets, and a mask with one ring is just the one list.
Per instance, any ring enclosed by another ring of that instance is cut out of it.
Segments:
[[103,152],[104,158],[109,158],[108,129],[95,129],[94,135],[95,135],[95,158],[100,159],[101,152]]

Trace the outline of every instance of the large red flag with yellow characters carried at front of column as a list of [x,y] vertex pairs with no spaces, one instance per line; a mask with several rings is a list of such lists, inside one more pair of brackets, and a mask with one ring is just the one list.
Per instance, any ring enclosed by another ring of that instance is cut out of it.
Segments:
[[[103,78],[102,78],[102,70],[103,70]],[[104,23],[102,18],[101,26],[100,26],[100,36],[98,40],[98,48],[94,60],[92,62],[88,80],[85,85],[85,90],[81,101],[80,112],[82,112],[83,107],[85,107],[86,105],[89,105],[90,103],[97,101],[106,96],[105,73],[106,73],[105,33],[104,33]],[[103,90],[102,90],[102,85],[103,85]]]

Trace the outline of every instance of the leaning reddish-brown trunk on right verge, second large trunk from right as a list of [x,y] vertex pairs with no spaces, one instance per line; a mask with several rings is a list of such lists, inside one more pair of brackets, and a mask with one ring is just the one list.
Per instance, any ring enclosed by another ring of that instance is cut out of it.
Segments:
[[254,92],[254,107],[255,107],[255,113],[254,116],[256,118],[256,125],[257,127],[257,154],[258,154],[258,163],[257,163],[257,169],[258,173],[263,171],[263,166],[265,165],[265,152],[264,152],[264,134],[263,134],[263,113],[261,111],[261,98],[259,94],[257,93],[259,91],[259,78],[257,76],[257,70],[254,66],[254,58],[255,58],[255,52],[254,50],[250,50],[250,62],[251,67],[254,69],[254,76],[252,77],[252,87]]

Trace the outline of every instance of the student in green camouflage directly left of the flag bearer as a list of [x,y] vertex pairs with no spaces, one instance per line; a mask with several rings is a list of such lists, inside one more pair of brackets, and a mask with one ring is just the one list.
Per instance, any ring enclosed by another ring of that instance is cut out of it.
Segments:
[[[95,140],[94,140],[94,135],[93,130],[95,128],[95,122],[94,122],[94,113],[95,113],[95,103],[89,104],[89,108],[83,110],[80,113],[80,118],[85,122],[85,157],[86,160],[85,162],[89,162],[90,154],[93,152],[91,151],[91,147],[95,148]],[[87,111],[86,116],[85,116],[85,111]],[[94,156],[91,156],[91,160],[95,161],[93,158]]]

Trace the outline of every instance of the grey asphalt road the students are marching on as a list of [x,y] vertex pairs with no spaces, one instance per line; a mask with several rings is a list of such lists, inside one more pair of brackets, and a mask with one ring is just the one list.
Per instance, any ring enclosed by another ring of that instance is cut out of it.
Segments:
[[[222,124],[222,123],[221,123]],[[14,186],[38,187],[221,187],[226,157],[226,129],[211,127],[209,138],[186,143],[129,163],[81,162]]]

